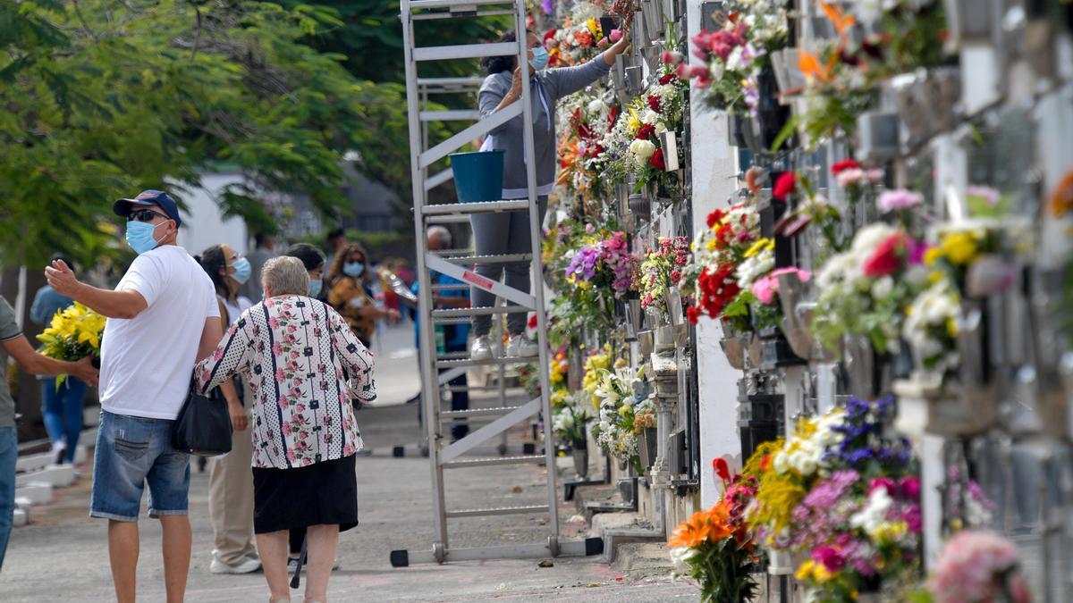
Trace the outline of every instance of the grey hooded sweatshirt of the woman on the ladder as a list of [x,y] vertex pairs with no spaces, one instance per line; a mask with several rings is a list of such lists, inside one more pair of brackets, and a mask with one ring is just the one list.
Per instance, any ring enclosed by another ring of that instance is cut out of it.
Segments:
[[[536,155],[536,188],[539,195],[552,192],[557,167],[557,137],[555,135],[555,103],[572,94],[611,71],[598,55],[587,63],[547,69],[532,76],[533,148]],[[488,117],[511,89],[512,71],[494,73],[484,79],[477,98],[482,117]],[[523,116],[517,116],[488,133],[482,150],[502,150],[503,198],[527,198],[526,164],[521,137]]]

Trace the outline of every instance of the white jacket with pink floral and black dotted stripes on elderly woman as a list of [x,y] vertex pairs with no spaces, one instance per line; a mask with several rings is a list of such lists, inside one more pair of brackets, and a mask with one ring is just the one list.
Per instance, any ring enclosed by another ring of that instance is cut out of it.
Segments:
[[372,368],[338,312],[289,295],[242,312],[194,374],[204,392],[241,373],[254,399],[253,467],[290,469],[362,448],[351,398],[376,398]]

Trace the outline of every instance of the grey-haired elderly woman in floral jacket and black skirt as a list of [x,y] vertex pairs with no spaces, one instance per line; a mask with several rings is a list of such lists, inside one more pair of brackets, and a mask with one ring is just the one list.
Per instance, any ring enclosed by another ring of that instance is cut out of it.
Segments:
[[292,528],[308,528],[305,600],[325,601],[339,532],[357,525],[354,454],[363,444],[351,399],[376,397],[372,354],[338,312],[309,297],[298,259],[269,260],[261,282],[264,302],[197,364],[197,383],[211,389],[241,373],[250,384],[253,531],[270,601],[290,601]]

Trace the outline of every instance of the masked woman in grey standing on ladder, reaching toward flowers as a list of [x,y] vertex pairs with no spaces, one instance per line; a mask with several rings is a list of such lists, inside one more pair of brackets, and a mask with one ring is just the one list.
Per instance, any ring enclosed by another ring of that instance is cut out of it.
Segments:
[[[547,50],[541,44],[540,38],[531,32],[525,32],[529,46],[530,92],[533,115],[533,150],[536,168],[536,194],[540,220],[543,222],[547,210],[547,195],[555,187],[555,171],[558,165],[556,156],[558,138],[555,134],[555,103],[559,99],[572,94],[597,79],[607,75],[615,64],[615,57],[624,52],[629,45],[629,35],[616,42],[591,61],[568,68],[544,69],[547,67]],[[514,42],[514,32],[508,32],[499,42]],[[487,118],[502,111],[521,98],[521,68],[517,65],[514,56],[486,57],[481,60],[481,67],[488,74],[481,85],[477,97],[481,116]],[[495,128],[485,138],[482,150],[502,150],[503,156],[503,192],[501,198],[528,198],[528,179],[526,177],[525,153],[523,150],[523,116],[509,120]],[[476,255],[503,255],[512,253],[529,253],[529,211],[502,211],[473,215],[470,217],[473,225],[473,247]],[[512,264],[477,264],[476,274],[498,281],[505,274],[504,284],[523,293],[529,293],[529,262]],[[486,308],[495,306],[496,296],[480,288],[472,288],[473,307]],[[488,333],[491,330],[490,315],[473,317],[473,342],[470,344],[470,357],[487,359],[491,357],[491,342]],[[511,339],[506,347],[508,356],[535,356],[539,352],[536,342],[526,337],[526,314],[512,313],[506,319],[506,330]]]

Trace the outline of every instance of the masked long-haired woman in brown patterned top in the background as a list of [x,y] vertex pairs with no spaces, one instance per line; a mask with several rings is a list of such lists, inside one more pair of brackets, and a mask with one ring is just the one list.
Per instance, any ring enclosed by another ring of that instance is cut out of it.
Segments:
[[377,306],[368,284],[372,282],[369,255],[359,244],[352,242],[336,254],[328,268],[328,304],[342,314],[354,335],[366,348],[372,347],[377,321],[383,318],[399,319],[398,310]]

